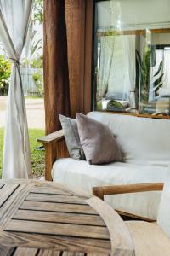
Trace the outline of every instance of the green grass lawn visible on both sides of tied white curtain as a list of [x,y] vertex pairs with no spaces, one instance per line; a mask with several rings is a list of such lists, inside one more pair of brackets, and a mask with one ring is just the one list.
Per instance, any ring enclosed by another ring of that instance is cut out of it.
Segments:
[[[0,177],[2,176],[2,166],[3,166],[3,133],[4,129],[0,128]],[[32,171],[35,177],[44,176],[44,151],[37,150],[37,147],[41,146],[41,143],[37,143],[37,138],[44,135],[43,130],[30,129],[30,146],[31,146],[31,164]]]

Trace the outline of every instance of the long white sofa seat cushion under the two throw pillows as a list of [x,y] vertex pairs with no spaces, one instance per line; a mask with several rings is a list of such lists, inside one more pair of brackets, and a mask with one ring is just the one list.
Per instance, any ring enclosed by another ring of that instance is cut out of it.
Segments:
[[[164,182],[168,172],[168,168],[160,166],[121,162],[97,166],[65,158],[54,163],[52,177],[70,189],[92,193],[93,187],[101,185]],[[161,191],[105,196],[105,201],[116,210],[151,219],[157,218],[160,200]]]

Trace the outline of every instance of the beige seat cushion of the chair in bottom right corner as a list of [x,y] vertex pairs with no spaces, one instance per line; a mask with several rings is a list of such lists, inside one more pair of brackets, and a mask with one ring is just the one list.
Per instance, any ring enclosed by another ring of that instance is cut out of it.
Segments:
[[135,256],[169,256],[170,239],[157,224],[126,221],[133,238]]

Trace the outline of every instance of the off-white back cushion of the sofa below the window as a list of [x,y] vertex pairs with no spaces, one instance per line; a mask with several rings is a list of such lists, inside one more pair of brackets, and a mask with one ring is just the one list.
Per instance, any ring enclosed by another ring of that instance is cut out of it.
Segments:
[[88,117],[109,126],[122,149],[124,161],[142,165],[169,165],[170,120],[102,112],[90,112]]

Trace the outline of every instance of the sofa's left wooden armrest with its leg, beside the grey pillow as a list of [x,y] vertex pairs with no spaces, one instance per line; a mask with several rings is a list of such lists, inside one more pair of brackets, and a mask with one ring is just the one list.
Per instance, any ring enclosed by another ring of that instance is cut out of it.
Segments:
[[54,161],[69,156],[63,131],[55,131],[40,137],[37,142],[42,143],[45,148],[45,179],[52,180],[51,171]]

